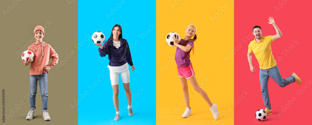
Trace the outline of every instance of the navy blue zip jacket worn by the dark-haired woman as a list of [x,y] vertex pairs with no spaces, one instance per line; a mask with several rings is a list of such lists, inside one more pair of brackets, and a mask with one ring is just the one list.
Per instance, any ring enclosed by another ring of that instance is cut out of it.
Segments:
[[99,47],[99,52],[101,57],[105,57],[108,55],[108,59],[110,60],[110,66],[122,66],[125,63],[129,63],[130,66],[133,66],[131,53],[129,49],[129,45],[126,39],[120,39],[120,47],[117,49],[113,45],[113,38],[109,38],[103,44],[103,49]]

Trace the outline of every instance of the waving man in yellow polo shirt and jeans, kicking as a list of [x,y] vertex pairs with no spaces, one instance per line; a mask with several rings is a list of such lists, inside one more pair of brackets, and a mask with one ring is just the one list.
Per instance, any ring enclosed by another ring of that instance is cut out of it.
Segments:
[[293,82],[297,82],[298,84],[301,84],[301,80],[295,73],[292,73],[290,77],[285,78],[285,79],[283,79],[282,76],[280,75],[280,71],[272,55],[271,43],[279,39],[283,35],[280,32],[280,29],[276,26],[274,18],[270,17],[269,21],[270,22],[268,23],[272,24],[273,27],[275,28],[276,35],[262,37],[261,27],[260,26],[253,27],[252,34],[256,38],[253,41],[251,41],[248,45],[247,58],[248,58],[249,66],[250,66],[250,71],[252,73],[255,73],[256,71],[251,63],[252,52],[255,54],[255,57],[257,58],[259,62],[259,66],[260,66],[259,79],[260,79],[260,85],[261,85],[261,94],[262,94],[264,105],[266,107],[265,109],[266,114],[271,115],[272,111],[271,111],[271,104],[270,104],[269,91],[268,91],[269,77],[273,78],[273,80],[280,87],[285,87]]

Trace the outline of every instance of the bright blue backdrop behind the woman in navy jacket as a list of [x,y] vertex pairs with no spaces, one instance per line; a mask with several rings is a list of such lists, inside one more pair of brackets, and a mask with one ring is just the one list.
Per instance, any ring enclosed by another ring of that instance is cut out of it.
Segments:
[[[121,2],[124,1],[122,4]],[[108,15],[109,14],[109,15]],[[105,41],[115,24],[130,46],[133,116],[119,75],[120,120],[115,121],[108,56],[100,57],[91,35],[101,31]],[[156,124],[156,1],[78,1],[78,123],[79,125]]]

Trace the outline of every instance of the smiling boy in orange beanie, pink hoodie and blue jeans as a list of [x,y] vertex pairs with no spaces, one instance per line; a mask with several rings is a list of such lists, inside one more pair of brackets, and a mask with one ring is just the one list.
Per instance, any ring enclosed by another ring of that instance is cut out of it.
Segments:
[[[36,109],[36,94],[37,94],[37,81],[39,81],[39,87],[41,92],[42,98],[42,111],[43,111],[43,119],[46,121],[51,120],[49,113],[48,113],[48,94],[47,94],[47,87],[48,87],[48,80],[47,74],[48,71],[57,64],[58,62],[58,55],[54,51],[54,49],[47,43],[42,42],[42,38],[44,37],[44,28],[42,26],[37,26],[34,29],[34,37],[36,38],[36,42],[32,43],[28,47],[27,50],[32,51],[35,55],[35,59],[33,61],[23,60],[25,66],[30,65],[30,72],[29,72],[29,82],[30,82],[30,111],[27,114],[26,119],[32,120],[33,117],[36,116],[35,109]],[[42,58],[41,58],[42,55]],[[52,58],[52,62],[50,65],[49,63],[50,58]]]

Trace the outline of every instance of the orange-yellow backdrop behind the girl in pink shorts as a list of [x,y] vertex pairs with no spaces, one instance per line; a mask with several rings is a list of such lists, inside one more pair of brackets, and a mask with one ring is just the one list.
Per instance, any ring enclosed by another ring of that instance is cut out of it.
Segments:
[[[190,58],[196,79],[212,103],[218,105],[218,120],[213,119],[208,104],[189,81],[193,115],[181,117],[186,106],[174,61],[176,47],[169,47],[165,37],[177,32],[184,38],[189,24],[197,28]],[[234,56],[228,57],[234,47],[234,2],[156,1],[156,27],[156,124],[234,124]],[[224,57],[230,60],[226,62]]]

